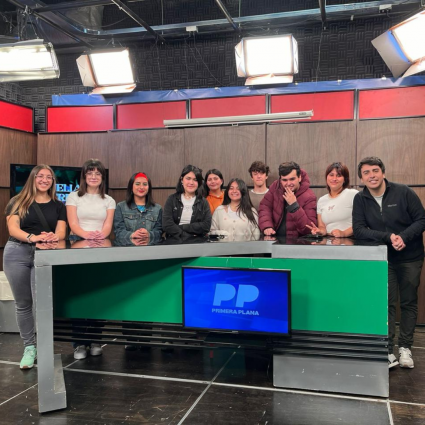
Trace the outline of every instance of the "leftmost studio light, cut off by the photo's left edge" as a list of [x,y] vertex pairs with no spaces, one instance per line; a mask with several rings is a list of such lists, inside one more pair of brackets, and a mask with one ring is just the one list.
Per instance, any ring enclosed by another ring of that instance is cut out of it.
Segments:
[[0,44],[0,82],[44,80],[59,75],[51,43],[36,39]]

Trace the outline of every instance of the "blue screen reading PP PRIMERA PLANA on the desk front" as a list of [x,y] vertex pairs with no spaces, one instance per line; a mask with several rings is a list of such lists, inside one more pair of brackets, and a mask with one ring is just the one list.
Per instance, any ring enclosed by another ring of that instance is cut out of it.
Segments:
[[289,335],[290,270],[182,267],[183,326]]

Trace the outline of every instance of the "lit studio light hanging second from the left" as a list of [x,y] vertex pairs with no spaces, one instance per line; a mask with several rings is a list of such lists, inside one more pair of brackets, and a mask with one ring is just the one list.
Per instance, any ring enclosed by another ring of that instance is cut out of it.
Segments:
[[135,89],[128,49],[91,51],[77,59],[83,85],[92,93],[127,93]]

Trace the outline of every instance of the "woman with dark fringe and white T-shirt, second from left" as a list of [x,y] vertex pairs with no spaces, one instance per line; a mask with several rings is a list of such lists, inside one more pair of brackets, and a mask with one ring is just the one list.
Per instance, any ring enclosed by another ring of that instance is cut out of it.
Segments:
[[[98,159],[89,159],[81,170],[80,188],[70,193],[66,200],[69,227],[74,235],[82,239],[102,240],[111,233],[116,203],[105,194],[105,179],[104,165]],[[86,344],[82,341],[74,343],[75,359],[87,357]],[[102,354],[100,344],[92,342],[89,345],[92,356]]]

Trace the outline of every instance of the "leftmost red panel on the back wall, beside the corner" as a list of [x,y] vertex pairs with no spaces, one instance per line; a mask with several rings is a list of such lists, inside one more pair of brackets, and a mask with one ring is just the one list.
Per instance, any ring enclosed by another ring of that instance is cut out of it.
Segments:
[[63,106],[47,108],[49,133],[107,131],[114,128],[114,107]]

